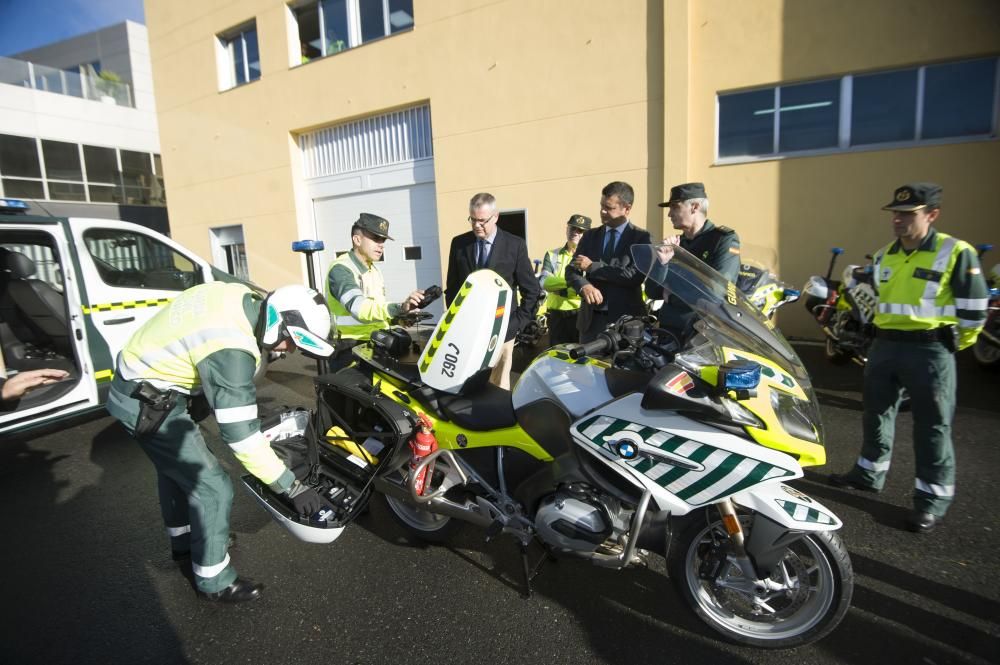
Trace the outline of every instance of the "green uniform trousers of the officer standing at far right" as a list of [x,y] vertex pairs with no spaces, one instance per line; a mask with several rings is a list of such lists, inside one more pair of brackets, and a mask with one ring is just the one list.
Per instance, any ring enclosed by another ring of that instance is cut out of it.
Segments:
[[910,396],[916,481],[913,507],[944,516],[955,495],[955,356],[939,342],[876,339],[865,366],[864,442],[850,475],[881,489],[892,457],[901,389]]

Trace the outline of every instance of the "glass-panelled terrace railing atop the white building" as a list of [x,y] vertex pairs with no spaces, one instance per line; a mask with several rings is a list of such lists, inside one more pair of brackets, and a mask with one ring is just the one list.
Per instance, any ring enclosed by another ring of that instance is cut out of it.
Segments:
[[132,89],[127,83],[112,81],[99,75],[47,67],[26,60],[0,57],[0,83],[106,104],[135,106]]

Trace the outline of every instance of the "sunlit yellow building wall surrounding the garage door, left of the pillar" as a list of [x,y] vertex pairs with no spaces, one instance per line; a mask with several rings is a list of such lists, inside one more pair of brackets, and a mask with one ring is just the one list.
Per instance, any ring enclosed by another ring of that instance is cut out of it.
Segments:
[[[598,218],[612,180],[635,187],[638,224],[660,219],[661,2],[413,4],[412,31],[290,68],[279,0],[147,0],[174,237],[208,255],[209,228],[242,224],[255,281],[304,279],[295,136],[428,100],[443,269],[478,191],[526,209],[539,258],[572,213]],[[253,18],[261,78],[219,92],[214,36]]]

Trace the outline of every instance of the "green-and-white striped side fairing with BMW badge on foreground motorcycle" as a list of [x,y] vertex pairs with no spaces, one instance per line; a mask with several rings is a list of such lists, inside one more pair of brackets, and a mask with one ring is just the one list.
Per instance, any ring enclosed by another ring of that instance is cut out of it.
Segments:
[[[626,471],[671,512],[685,514],[761,483],[802,475],[784,453],[684,416],[643,411],[641,400],[641,395],[627,395],[574,423],[571,431],[585,450]],[[648,417],[635,422],[637,413]],[[623,456],[622,442],[640,454]]]

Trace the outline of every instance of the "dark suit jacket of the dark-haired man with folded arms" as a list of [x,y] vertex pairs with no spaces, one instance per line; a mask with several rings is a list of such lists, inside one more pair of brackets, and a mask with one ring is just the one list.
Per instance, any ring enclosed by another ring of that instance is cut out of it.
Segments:
[[[596,309],[604,311],[606,308],[608,322],[617,321],[626,314],[641,316],[646,311],[645,303],[642,301],[642,282],[646,276],[636,270],[629,250],[632,249],[632,245],[651,245],[653,239],[649,231],[633,226],[629,222],[618,238],[611,261],[604,263],[601,261],[601,255],[604,253],[606,232],[607,227],[601,226],[583,234],[574,258],[586,256],[593,261],[593,264],[586,273],[570,264],[566,268],[566,282],[577,293],[580,293],[587,284],[597,287],[604,296],[604,303]],[[590,327],[593,311],[594,308],[586,303],[580,305],[577,328],[581,332],[586,332]]]

